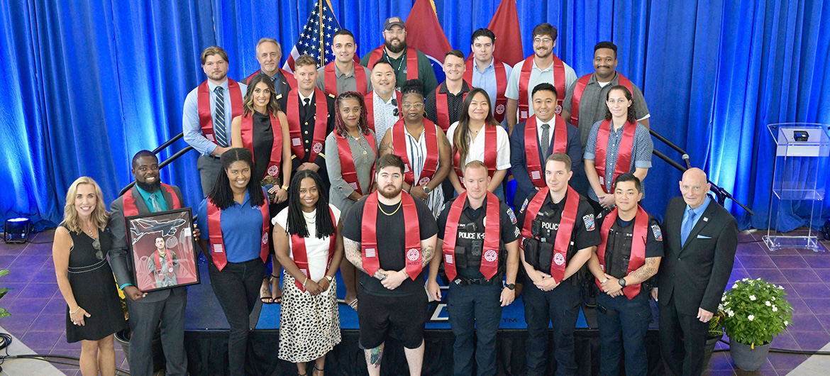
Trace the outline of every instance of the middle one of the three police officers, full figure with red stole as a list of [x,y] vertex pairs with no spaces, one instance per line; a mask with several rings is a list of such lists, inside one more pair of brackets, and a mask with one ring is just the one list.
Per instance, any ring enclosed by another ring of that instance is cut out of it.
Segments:
[[553,322],[557,375],[577,373],[574,329],[585,262],[598,246],[593,208],[570,188],[568,154],[551,154],[544,163],[545,187],[530,193],[517,216],[522,227],[520,252],[530,280],[525,284],[528,338],[527,374],[545,374],[548,325]]

